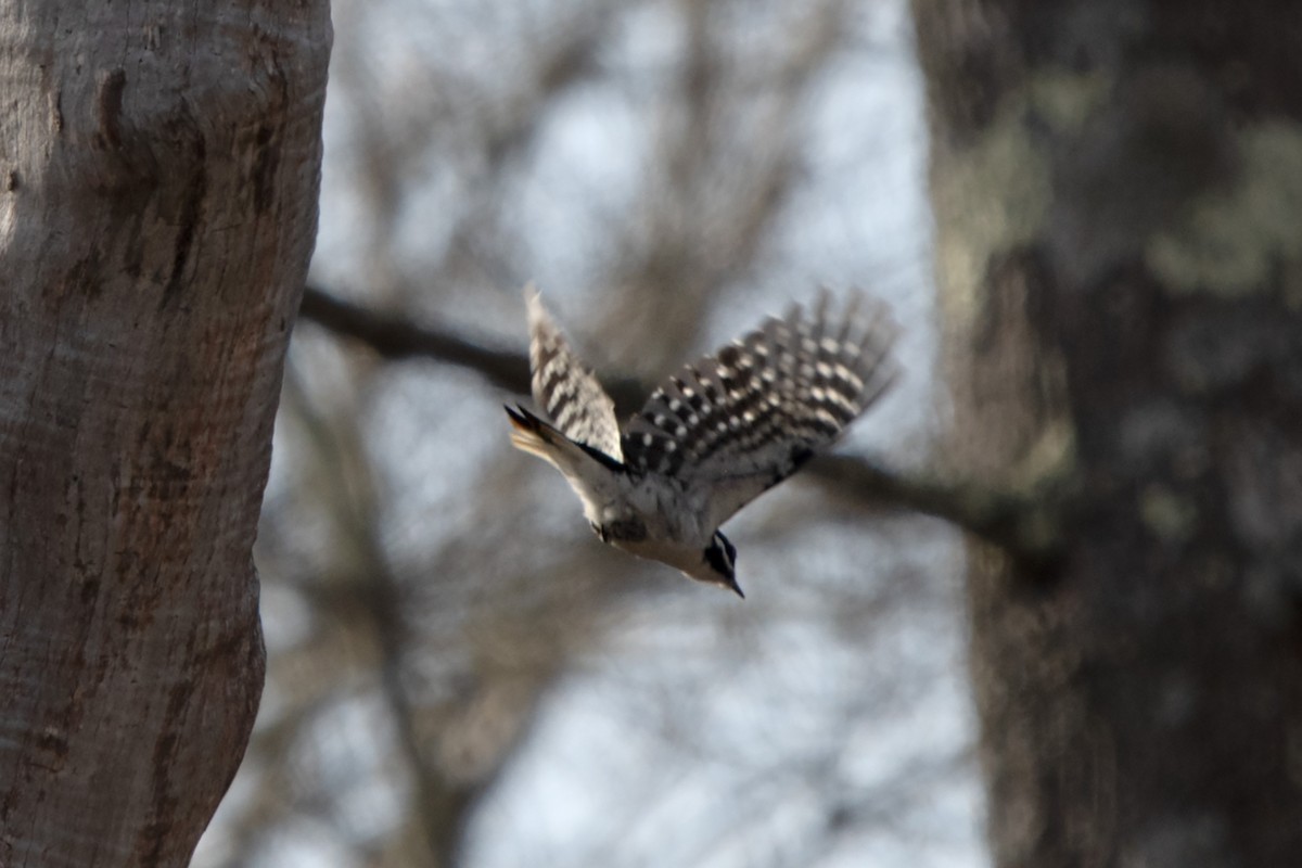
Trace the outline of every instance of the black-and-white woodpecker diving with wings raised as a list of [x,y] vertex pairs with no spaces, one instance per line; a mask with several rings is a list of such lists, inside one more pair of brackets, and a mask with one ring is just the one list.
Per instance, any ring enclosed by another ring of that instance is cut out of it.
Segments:
[[682,368],[621,428],[533,285],[525,299],[547,420],[506,407],[512,444],[565,475],[603,543],[741,597],[719,526],[836,442],[896,372],[884,306],[855,293],[833,314],[823,292]]

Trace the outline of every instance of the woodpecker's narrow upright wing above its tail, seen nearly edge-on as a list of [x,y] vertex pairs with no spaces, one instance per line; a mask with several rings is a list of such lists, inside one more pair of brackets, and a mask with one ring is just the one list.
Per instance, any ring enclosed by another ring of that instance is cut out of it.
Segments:
[[617,462],[624,461],[615,402],[570,350],[533,284],[525,286],[525,303],[529,305],[534,401],[562,435]]

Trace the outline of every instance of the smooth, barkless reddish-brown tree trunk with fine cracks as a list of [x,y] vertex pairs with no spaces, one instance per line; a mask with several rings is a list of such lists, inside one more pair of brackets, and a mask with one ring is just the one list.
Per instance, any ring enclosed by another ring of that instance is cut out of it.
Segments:
[[253,545],[326,3],[0,9],[0,864],[184,865],[253,726]]

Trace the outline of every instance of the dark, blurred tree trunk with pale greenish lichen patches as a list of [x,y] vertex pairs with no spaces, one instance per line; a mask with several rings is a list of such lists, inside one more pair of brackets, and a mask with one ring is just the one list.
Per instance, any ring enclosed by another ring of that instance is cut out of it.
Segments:
[[1298,864],[1302,7],[914,10],[996,864]]

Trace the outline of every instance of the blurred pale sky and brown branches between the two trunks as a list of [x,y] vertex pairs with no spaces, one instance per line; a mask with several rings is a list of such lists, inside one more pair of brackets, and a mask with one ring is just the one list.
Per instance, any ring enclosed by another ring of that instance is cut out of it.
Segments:
[[[535,280],[654,383],[820,285],[905,376],[840,446],[935,462],[900,0],[336,0],[314,292],[522,353]],[[195,865],[980,865],[961,553],[793,481],[747,600],[592,537],[503,390],[306,318],[256,549],[268,678]]]

